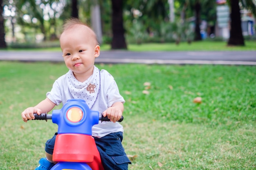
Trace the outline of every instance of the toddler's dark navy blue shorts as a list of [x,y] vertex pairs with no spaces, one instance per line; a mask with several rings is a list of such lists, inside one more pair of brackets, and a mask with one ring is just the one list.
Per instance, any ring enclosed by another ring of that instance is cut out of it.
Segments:
[[[45,144],[45,152],[53,154],[55,138],[47,140]],[[121,142],[123,140],[123,133],[110,133],[104,137],[94,137],[96,146],[101,156],[101,162],[105,170],[128,170],[128,163],[131,163]]]

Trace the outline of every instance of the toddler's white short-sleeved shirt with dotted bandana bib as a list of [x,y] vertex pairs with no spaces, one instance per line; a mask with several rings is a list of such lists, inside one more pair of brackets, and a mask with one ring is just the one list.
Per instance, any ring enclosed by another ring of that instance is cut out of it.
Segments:
[[[96,75],[97,74],[97,75]],[[94,66],[93,75],[91,77],[97,77],[99,75],[99,69]],[[68,99],[76,98],[76,96],[85,95],[85,90],[81,88],[77,89],[77,85],[72,86],[72,88],[76,88],[76,94],[74,95],[74,91],[71,90],[70,85],[68,85],[68,79],[72,78],[74,81],[76,81],[76,84],[81,84],[84,86],[88,86],[89,83],[94,82],[94,78],[88,78],[88,81],[85,82],[79,82],[74,78],[74,75],[72,71],[68,71],[65,75],[62,75],[59,77],[53,84],[52,90],[50,92],[47,92],[46,96],[49,98],[52,102],[54,102],[56,105],[65,104]],[[98,76],[99,77],[99,76]],[[96,81],[96,80],[95,80]],[[99,83],[99,82],[97,82]],[[114,80],[114,77],[108,73],[106,70],[100,71],[100,88],[99,91],[97,91],[97,84],[96,84],[96,90],[94,93],[94,96],[97,96],[96,102],[92,105],[91,110],[99,111],[99,114],[101,114],[103,111],[105,111],[108,107],[112,106],[116,102],[122,102],[124,103],[124,98],[120,95],[118,86]],[[73,91],[73,92],[72,92]],[[88,93],[87,91],[86,93]],[[91,91],[92,92],[92,91]],[[88,93],[89,94],[89,93]],[[87,94],[86,94],[87,95]],[[77,97],[79,98],[79,97]],[[86,97],[83,97],[85,99],[85,102],[88,104],[91,101],[87,101]],[[95,99],[95,98],[94,98]],[[94,100],[95,101],[95,100]],[[89,105],[89,104],[88,104]],[[90,106],[89,106],[90,108]],[[110,121],[99,121],[99,124],[94,125],[92,127],[92,136],[101,138],[103,136],[106,136],[112,132],[124,132],[123,126],[119,124],[118,122],[113,123]]]

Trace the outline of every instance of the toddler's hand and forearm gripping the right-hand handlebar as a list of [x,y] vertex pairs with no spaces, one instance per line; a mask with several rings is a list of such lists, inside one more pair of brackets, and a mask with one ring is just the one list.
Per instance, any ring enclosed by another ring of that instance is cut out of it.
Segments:
[[116,102],[103,112],[103,117],[108,116],[108,119],[110,119],[110,121],[113,121],[115,123],[122,117],[123,111],[124,111],[124,104],[122,102]]

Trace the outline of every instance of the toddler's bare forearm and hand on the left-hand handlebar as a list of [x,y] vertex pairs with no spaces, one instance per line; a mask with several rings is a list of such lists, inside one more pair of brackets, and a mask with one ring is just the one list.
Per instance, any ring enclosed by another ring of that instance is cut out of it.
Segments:
[[34,113],[40,115],[41,113],[51,111],[56,104],[53,103],[50,99],[46,98],[42,102],[38,103],[35,107],[26,108],[22,113],[21,117],[23,121],[35,119]]

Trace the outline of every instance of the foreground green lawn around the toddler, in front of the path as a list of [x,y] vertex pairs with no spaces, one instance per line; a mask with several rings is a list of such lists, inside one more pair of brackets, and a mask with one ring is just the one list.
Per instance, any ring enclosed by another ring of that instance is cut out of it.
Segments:
[[[255,66],[97,66],[115,77],[126,100],[121,124],[130,170],[255,170]],[[45,156],[57,126],[25,123],[20,114],[66,72],[63,63],[0,62],[0,170],[34,170]]]

